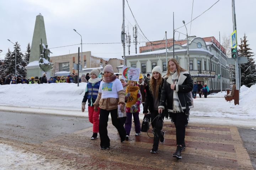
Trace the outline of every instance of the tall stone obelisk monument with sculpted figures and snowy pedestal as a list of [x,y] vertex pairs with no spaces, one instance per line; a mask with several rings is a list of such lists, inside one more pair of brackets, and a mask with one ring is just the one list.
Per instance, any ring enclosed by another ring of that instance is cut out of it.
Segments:
[[44,59],[49,56],[49,52],[44,18],[40,13],[36,16],[29,63],[25,67],[27,69],[27,78],[36,76],[39,78],[42,77],[43,73],[46,73],[48,78],[52,76],[52,63]]

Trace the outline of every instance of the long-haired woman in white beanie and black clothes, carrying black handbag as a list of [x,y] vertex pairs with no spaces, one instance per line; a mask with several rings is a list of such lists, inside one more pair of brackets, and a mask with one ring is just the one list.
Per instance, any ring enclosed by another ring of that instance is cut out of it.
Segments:
[[[146,96],[143,113],[146,115],[148,114],[148,110],[150,111],[151,125],[154,132],[153,148],[151,149],[150,153],[156,153],[158,151],[159,140],[161,143],[164,142],[164,132],[161,131],[162,129],[156,127],[155,119],[158,115],[160,94],[164,80],[162,78],[162,71],[160,66],[154,67],[152,70],[152,74],[152,78],[148,81],[148,84],[145,87]],[[162,116],[164,116],[164,114],[162,114]]]

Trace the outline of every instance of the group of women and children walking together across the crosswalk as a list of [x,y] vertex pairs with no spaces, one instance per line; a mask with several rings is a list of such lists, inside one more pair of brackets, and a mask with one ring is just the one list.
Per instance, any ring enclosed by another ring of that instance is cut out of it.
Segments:
[[[128,83],[114,75],[110,64],[103,69],[101,80],[100,70],[92,70],[88,80],[81,109],[85,111],[88,101],[89,121],[93,124],[91,139],[95,140],[99,133],[101,149],[110,147],[107,123],[111,114],[112,124],[120,136],[120,142],[129,140],[132,126],[132,116],[135,124],[135,136],[140,135],[139,112],[143,105],[144,118],[151,119],[154,140],[150,153],[158,152],[159,142],[164,143],[165,132],[162,131],[162,121],[165,112],[170,114],[176,128],[176,152],[173,157],[181,159],[181,151],[185,145],[185,125],[190,109],[193,107],[193,80],[187,70],[180,67],[171,58],[167,64],[167,74],[162,75],[161,68],[156,66],[152,70],[152,77],[147,75],[145,81],[140,74],[139,81]],[[147,81],[147,82],[146,82]],[[118,105],[126,112],[126,117],[118,118]],[[126,106],[126,107],[124,107]]]

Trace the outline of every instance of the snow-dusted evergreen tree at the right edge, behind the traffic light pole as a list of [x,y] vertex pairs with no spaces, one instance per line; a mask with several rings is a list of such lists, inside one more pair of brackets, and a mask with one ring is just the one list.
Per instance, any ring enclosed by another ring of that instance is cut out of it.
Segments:
[[253,60],[251,49],[248,47],[246,40],[247,36],[244,34],[243,39],[241,40],[241,44],[239,45],[238,56],[239,57],[247,57],[248,63],[241,64],[241,86],[245,85],[247,87],[251,87],[256,83],[256,65]]

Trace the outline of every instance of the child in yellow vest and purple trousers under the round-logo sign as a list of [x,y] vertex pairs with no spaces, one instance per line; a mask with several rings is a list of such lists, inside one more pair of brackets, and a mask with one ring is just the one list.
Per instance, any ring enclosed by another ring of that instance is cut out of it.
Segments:
[[129,81],[126,88],[126,122],[124,129],[126,130],[126,140],[129,139],[130,130],[132,128],[132,115],[135,124],[135,136],[140,135],[139,112],[140,104],[142,103],[142,95],[136,81]]

